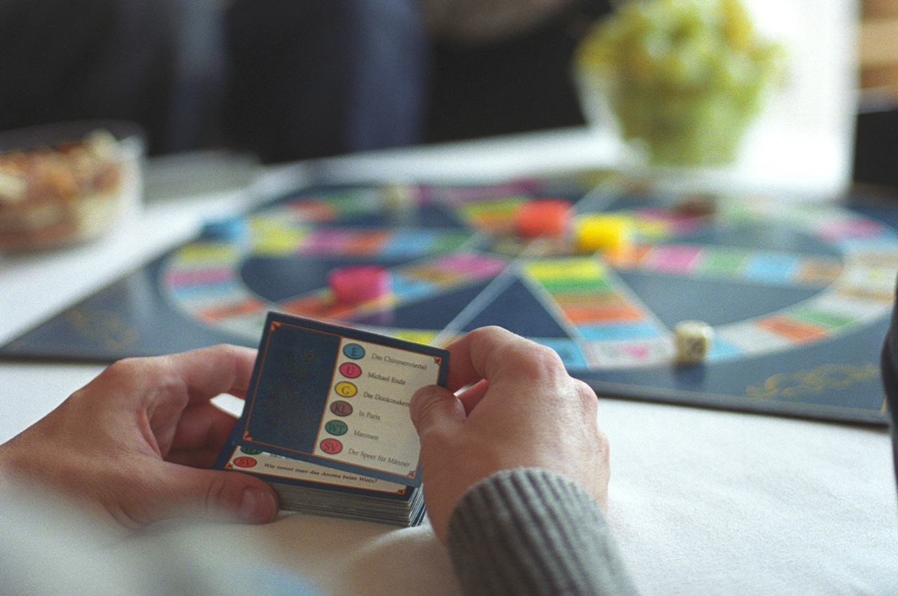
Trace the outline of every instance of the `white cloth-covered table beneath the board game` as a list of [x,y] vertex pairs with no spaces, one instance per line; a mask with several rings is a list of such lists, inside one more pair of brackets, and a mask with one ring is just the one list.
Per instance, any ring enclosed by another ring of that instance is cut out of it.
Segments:
[[[504,177],[610,164],[618,153],[609,143],[581,129],[551,131],[297,164],[266,172],[249,191],[149,197],[139,219],[90,246],[0,259],[0,342],[188,238],[204,217],[278,188],[319,177]],[[848,158],[832,143],[768,135],[753,144],[743,162],[705,180],[790,196],[832,196],[847,181]],[[0,362],[0,441],[100,370]],[[645,594],[898,592],[898,508],[884,429],[615,399],[601,400],[599,416],[612,443],[609,517]],[[264,527],[210,526],[202,537],[215,545],[258,541],[338,594],[457,592],[427,527],[292,515]]]

